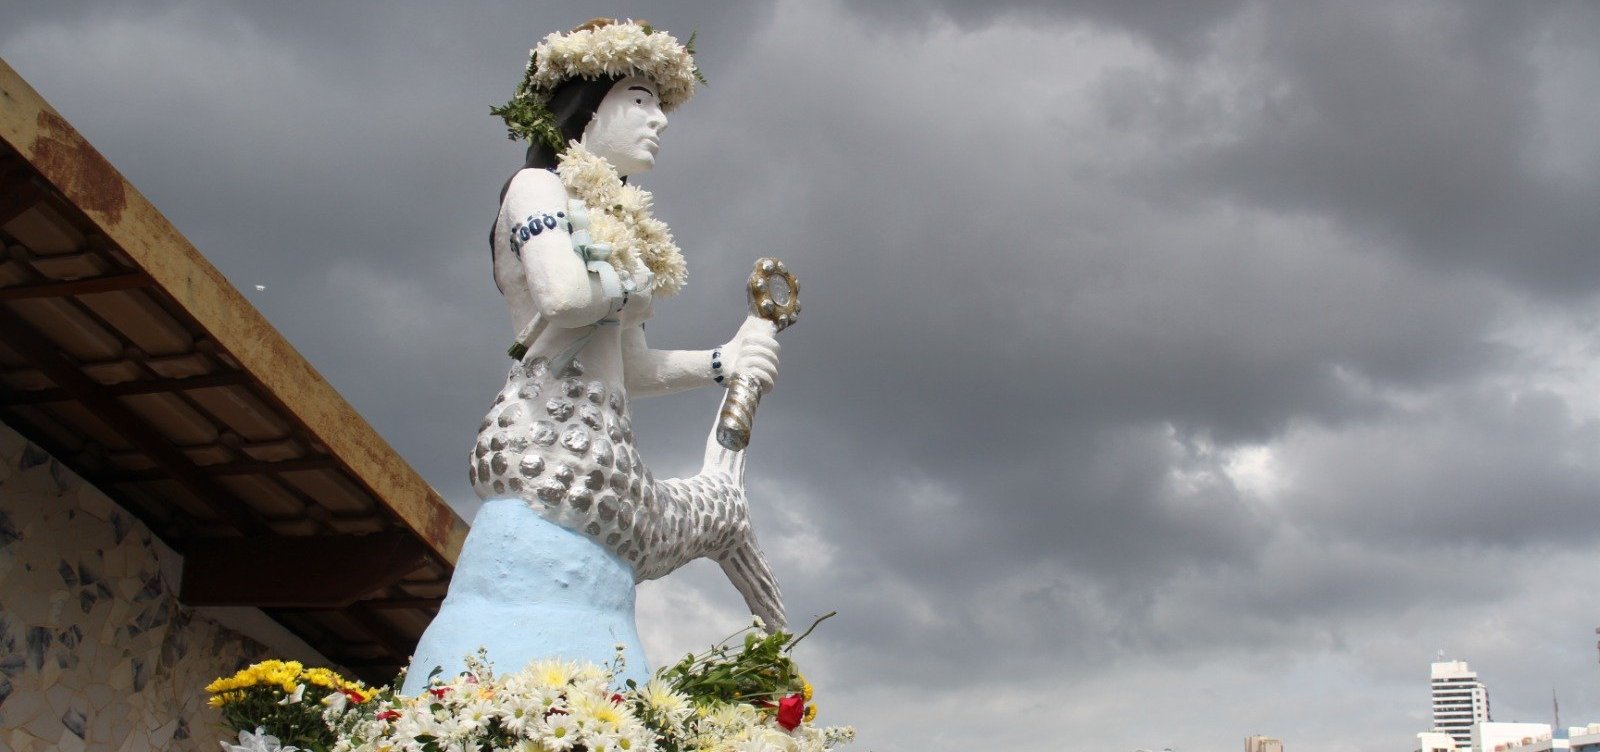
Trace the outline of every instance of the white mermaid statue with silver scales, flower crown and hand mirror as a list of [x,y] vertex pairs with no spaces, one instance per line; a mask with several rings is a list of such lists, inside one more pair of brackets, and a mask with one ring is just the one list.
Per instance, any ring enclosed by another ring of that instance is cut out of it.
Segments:
[[[406,694],[434,667],[459,672],[480,646],[509,670],[552,656],[608,662],[624,646],[618,678],[643,682],[634,586],[699,557],[722,565],[755,616],[784,624],[750,530],[741,450],[798,288],[762,259],[754,315],[733,339],[709,350],[645,342],[643,323],[686,269],[651,195],[626,179],[654,165],[667,114],[696,80],[693,38],[595,19],[546,37],[515,98],[493,109],[512,138],[531,141],[491,232],[515,365],[469,458],[485,504]],[[714,384],[731,389],[701,472],[656,480],[635,451],[629,400]]]

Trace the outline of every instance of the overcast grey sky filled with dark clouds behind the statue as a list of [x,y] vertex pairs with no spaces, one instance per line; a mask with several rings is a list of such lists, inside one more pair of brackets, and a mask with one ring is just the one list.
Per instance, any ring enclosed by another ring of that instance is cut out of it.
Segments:
[[[5,5],[0,56],[467,517],[488,106],[550,30],[698,27],[650,338],[800,277],[750,496],[792,619],[840,611],[800,658],[856,749],[1410,750],[1440,650],[1496,720],[1600,722],[1597,5]],[[635,403],[656,475],[717,398]],[[741,608],[701,562],[640,629]]]

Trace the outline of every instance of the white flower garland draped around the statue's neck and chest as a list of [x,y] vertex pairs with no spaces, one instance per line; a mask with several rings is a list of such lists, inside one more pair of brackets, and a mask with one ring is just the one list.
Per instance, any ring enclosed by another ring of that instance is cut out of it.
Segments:
[[562,152],[555,173],[589,208],[589,237],[611,246],[606,261],[622,278],[635,275],[637,264],[643,264],[654,275],[656,296],[669,298],[683,290],[690,278],[688,264],[672,242],[667,222],[651,216],[654,197],[650,190],[624,186],[605,157],[578,141]]

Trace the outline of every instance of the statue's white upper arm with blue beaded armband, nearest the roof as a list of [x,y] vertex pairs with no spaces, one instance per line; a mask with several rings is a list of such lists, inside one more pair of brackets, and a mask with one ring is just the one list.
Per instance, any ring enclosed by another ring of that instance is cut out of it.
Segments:
[[[560,178],[546,170],[517,173],[501,203],[499,222],[522,259],[528,293],[546,322],[562,328],[587,326],[611,314],[611,299],[598,277],[573,253],[566,232],[566,187]],[[528,230],[533,222],[539,222],[538,234]]]

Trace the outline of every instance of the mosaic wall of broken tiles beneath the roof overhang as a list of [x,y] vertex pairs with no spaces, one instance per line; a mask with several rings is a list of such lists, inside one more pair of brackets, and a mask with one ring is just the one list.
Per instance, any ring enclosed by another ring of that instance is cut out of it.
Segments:
[[139,520],[0,424],[0,749],[218,749],[202,688],[266,648],[179,605],[162,557]]

